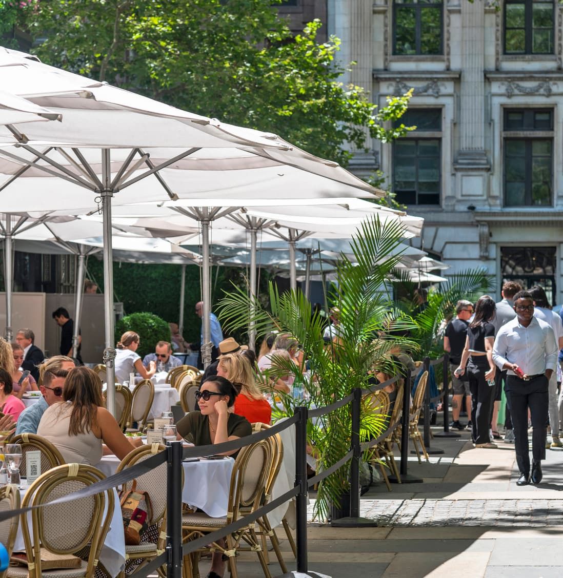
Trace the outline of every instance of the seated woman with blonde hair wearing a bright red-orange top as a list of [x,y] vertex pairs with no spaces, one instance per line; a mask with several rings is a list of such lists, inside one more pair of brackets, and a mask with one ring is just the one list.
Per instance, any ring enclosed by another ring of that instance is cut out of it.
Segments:
[[234,402],[234,413],[245,417],[251,424],[261,422],[269,424],[272,419],[272,408],[256,384],[250,362],[242,355],[228,353],[219,357],[217,375],[226,377],[233,385],[240,388]]

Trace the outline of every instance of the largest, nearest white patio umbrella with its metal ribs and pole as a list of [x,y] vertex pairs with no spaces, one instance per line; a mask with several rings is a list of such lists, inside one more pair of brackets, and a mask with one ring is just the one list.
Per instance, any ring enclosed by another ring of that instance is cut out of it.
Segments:
[[[0,202],[5,212],[16,212],[21,206],[37,211],[90,210],[98,198],[109,228],[114,195],[113,202],[122,205],[183,197],[198,206],[197,199],[210,192],[230,202],[243,193],[257,198],[271,190],[279,198],[282,189],[295,197],[360,197],[377,192],[337,165],[291,149],[274,135],[185,113],[59,71],[25,54],[0,50],[0,80],[15,94],[63,115],[53,131],[36,128],[41,123],[30,123],[25,132],[16,133],[0,127],[0,142],[19,144],[17,150],[0,149],[5,159],[0,162],[0,191],[12,192]],[[286,157],[278,155],[282,151],[288,153]],[[33,186],[26,177],[33,178]],[[93,195],[80,195],[80,191]],[[104,279],[109,380],[115,355],[111,249],[108,230]],[[208,325],[204,305],[207,336]],[[112,398],[111,391],[110,409]]]

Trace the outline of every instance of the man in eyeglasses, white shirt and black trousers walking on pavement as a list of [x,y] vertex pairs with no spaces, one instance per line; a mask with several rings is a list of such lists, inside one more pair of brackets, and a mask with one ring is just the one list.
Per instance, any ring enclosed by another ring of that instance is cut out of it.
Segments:
[[[520,477],[525,486],[542,481],[542,460],[546,458],[546,424],[549,405],[549,379],[557,364],[555,334],[549,324],[533,316],[533,297],[529,291],[514,295],[516,318],[496,334],[492,358],[507,370],[506,400],[514,427],[514,449]],[[528,409],[532,417],[532,470],[528,444]]]

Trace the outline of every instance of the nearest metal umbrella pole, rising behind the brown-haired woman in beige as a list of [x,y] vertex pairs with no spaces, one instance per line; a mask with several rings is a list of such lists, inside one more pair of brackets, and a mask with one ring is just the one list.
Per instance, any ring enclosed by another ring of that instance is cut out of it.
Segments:
[[102,184],[100,193],[102,198],[102,219],[104,228],[104,321],[105,321],[105,349],[104,363],[106,366],[106,395],[108,412],[115,417],[115,360],[113,325],[113,252],[112,252],[112,197],[111,167],[109,149],[102,149]]

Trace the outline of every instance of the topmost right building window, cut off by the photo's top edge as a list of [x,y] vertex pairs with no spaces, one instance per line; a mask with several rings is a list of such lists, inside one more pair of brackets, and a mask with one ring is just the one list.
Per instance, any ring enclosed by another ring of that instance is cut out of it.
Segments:
[[506,0],[505,54],[553,54],[553,24],[553,0]]

